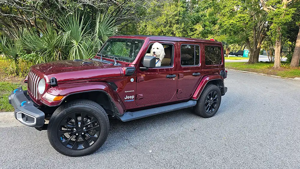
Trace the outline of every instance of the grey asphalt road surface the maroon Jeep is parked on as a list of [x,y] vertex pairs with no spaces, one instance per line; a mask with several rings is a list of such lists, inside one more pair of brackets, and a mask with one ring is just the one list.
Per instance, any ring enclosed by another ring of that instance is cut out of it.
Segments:
[[56,152],[46,131],[0,128],[0,168],[300,168],[300,83],[229,71],[218,113],[110,120],[96,153]]

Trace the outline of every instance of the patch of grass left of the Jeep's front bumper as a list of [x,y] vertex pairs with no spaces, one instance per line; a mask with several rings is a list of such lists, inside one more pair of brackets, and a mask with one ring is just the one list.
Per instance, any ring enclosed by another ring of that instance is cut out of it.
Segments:
[[8,103],[8,96],[20,86],[27,90],[27,86],[22,83],[0,82],[0,112],[13,111],[13,106]]

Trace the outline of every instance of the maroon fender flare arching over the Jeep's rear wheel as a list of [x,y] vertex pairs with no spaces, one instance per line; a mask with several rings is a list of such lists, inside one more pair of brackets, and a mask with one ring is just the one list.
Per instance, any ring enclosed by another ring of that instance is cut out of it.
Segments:
[[199,82],[199,85],[197,86],[192,96],[192,99],[198,100],[205,86],[209,84],[214,84],[219,88],[224,88],[224,78],[218,74],[211,74],[211,75],[204,76]]

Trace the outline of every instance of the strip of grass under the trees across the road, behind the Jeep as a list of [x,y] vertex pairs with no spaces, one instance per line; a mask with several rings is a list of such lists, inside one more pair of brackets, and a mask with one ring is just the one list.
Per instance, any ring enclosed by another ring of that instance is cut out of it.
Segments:
[[257,73],[271,74],[281,77],[295,78],[300,77],[300,68],[290,68],[289,63],[283,62],[286,66],[281,68],[272,68],[274,63],[259,62],[255,64],[247,64],[246,62],[225,63],[225,68],[240,71],[251,71]]

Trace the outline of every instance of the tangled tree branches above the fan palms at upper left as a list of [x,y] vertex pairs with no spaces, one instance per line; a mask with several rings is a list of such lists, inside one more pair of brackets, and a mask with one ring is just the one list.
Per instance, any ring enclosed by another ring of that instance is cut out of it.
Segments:
[[[98,14],[112,14],[117,25],[143,20],[145,15],[140,11],[149,8],[150,0],[75,0],[75,1],[34,1],[34,0],[1,0],[0,30],[8,36],[14,36],[19,29],[35,30],[37,35],[45,23],[61,30],[59,20],[77,12],[80,20],[90,20],[91,27],[96,24]],[[53,12],[55,11],[55,12]],[[87,27],[88,29],[90,27]]]

